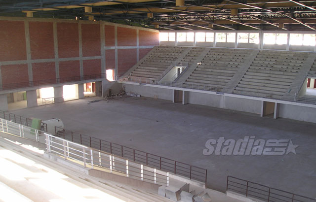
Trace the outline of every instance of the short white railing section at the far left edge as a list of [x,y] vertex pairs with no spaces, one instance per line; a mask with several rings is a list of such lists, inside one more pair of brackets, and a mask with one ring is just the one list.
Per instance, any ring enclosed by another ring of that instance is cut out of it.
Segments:
[[35,140],[37,142],[42,141],[44,138],[44,131],[33,129],[21,124],[14,123],[0,118],[0,131],[3,133],[8,133],[12,135],[17,135],[20,137],[25,137],[28,139]]

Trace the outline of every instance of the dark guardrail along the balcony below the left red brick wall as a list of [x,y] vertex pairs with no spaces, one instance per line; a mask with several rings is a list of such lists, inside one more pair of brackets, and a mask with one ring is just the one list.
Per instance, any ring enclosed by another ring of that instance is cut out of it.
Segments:
[[0,91],[11,90],[11,89],[16,89],[16,88],[27,88],[27,87],[34,87],[34,86],[41,86],[41,85],[49,85],[49,84],[56,84],[56,83],[67,83],[67,82],[74,82],[74,81],[98,79],[98,78],[105,78],[105,77],[106,77],[105,73],[100,73],[100,74],[92,74],[92,75],[84,75],[84,76],[73,76],[73,77],[67,77],[67,78],[45,79],[45,80],[39,80],[39,81],[2,84],[0,85]]

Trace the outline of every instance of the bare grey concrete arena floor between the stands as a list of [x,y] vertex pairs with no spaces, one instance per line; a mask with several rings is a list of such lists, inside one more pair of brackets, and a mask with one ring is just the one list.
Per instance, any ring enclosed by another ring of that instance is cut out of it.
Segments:
[[[224,192],[227,175],[316,198],[316,124],[271,119],[201,105],[150,98],[121,98],[87,104],[86,98],[11,111],[43,120],[60,118],[67,130],[207,168],[207,186]],[[292,139],[296,155],[202,154],[208,139]]]

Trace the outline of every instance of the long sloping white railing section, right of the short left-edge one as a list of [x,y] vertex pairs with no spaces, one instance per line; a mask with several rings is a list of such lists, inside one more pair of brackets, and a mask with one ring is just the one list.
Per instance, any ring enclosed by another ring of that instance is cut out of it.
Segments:
[[45,136],[47,152],[60,155],[65,160],[79,161],[83,163],[84,168],[106,168],[110,169],[111,172],[116,171],[138,180],[169,185],[169,172],[130,162],[126,158],[105,153],[50,134],[45,134]]

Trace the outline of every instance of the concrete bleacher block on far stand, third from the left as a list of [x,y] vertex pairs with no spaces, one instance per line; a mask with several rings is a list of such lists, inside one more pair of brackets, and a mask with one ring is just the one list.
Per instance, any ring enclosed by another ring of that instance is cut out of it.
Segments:
[[308,53],[262,50],[237,84],[235,94],[280,99]]

